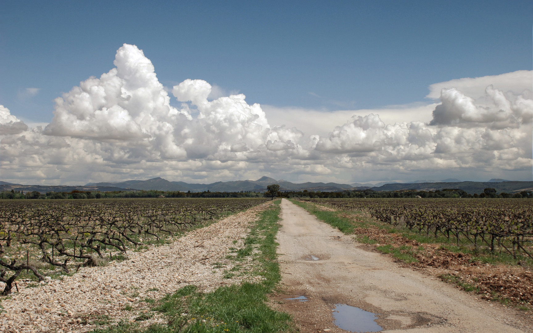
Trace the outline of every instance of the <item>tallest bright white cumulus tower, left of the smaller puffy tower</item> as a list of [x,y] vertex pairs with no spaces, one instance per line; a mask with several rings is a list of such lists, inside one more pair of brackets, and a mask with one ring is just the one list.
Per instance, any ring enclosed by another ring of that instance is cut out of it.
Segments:
[[114,64],[100,78],[55,99],[54,118],[44,133],[115,142],[133,158],[184,158],[172,135],[190,115],[171,107],[151,61],[135,45],[124,44]]

